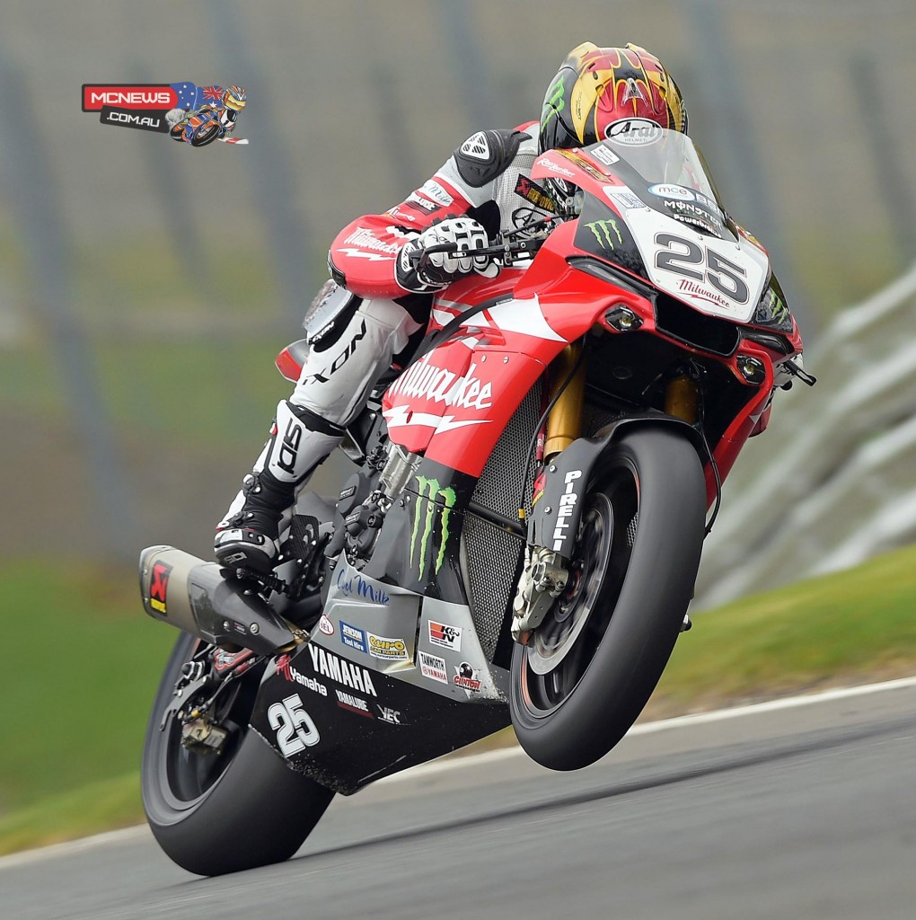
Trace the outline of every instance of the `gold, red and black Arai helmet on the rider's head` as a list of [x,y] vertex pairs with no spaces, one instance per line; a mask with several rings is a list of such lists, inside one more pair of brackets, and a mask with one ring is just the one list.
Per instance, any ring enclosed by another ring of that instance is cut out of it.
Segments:
[[599,48],[585,41],[569,52],[544,96],[541,152],[596,144],[615,121],[634,118],[687,132],[681,91],[654,54],[634,44]]

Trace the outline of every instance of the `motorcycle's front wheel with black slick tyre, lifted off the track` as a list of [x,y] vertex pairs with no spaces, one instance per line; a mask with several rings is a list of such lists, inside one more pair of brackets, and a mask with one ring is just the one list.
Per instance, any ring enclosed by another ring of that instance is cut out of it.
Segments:
[[512,653],[512,725],[539,764],[594,763],[646,706],[693,595],[705,495],[693,446],[665,428],[628,432],[602,459],[567,589]]

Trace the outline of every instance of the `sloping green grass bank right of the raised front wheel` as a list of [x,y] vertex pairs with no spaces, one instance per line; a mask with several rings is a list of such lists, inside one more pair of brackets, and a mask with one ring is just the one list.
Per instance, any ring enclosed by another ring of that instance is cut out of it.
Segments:
[[655,697],[685,711],[916,673],[916,546],[694,617]]

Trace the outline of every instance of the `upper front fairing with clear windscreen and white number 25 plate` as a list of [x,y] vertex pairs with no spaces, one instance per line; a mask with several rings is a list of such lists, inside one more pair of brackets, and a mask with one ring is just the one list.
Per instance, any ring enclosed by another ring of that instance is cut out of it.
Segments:
[[582,190],[578,249],[708,316],[756,324],[765,298],[762,315],[791,328],[765,250],[728,217],[703,155],[685,134],[658,128],[647,137],[549,151],[532,176]]

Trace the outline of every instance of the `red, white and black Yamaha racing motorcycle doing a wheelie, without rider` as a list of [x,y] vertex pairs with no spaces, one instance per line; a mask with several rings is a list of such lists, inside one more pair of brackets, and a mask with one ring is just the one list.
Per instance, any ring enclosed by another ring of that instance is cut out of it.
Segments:
[[646,705],[722,480],[777,385],[814,378],[693,142],[631,121],[538,158],[555,216],[435,298],[272,574],[143,550],[144,609],[182,630],[143,804],[180,866],[290,857],[335,793],[510,724],[540,764],[590,765]]

